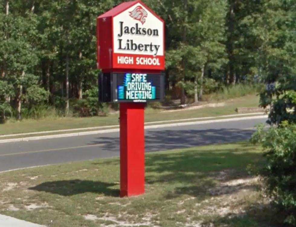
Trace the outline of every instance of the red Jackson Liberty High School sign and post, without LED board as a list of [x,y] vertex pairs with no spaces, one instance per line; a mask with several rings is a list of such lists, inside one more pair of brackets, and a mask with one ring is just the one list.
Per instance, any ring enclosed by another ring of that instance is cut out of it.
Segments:
[[[114,24],[116,20],[119,23]],[[124,23],[127,26],[123,27]],[[114,42],[115,30],[119,32],[118,43]],[[121,39],[123,34],[125,38]],[[138,43],[133,44],[129,37]],[[123,2],[100,15],[97,18],[97,68],[102,72],[163,73],[164,21],[141,1]],[[120,103],[120,197],[145,192],[144,109],[144,103]]]

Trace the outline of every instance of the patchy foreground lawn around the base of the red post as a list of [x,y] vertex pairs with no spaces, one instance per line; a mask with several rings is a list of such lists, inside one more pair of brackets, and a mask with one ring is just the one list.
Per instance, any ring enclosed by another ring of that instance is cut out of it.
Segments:
[[271,213],[248,175],[248,142],[146,155],[146,193],[119,198],[118,158],[0,174],[0,213],[50,227],[262,227]]

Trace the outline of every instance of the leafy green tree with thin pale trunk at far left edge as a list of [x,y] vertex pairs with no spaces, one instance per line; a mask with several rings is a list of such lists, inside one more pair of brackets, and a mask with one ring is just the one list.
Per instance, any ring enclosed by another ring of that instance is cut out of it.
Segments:
[[[14,9],[15,6],[11,8]],[[8,2],[5,12],[1,21],[3,33],[0,62],[4,66],[2,78],[7,86],[13,87],[13,106],[17,112],[17,119],[21,119],[23,90],[29,88],[32,81],[35,84],[38,82],[38,77],[35,77],[32,72],[39,59],[35,48],[31,45],[36,41],[36,20],[30,10],[26,11],[24,16],[9,13]],[[30,83],[27,83],[28,81]],[[10,102],[10,97],[11,94],[6,98],[8,102]]]

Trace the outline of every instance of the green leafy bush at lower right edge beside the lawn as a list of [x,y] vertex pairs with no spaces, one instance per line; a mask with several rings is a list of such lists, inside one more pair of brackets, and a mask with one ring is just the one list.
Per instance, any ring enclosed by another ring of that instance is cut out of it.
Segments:
[[296,125],[285,121],[278,128],[263,127],[259,126],[251,138],[264,150],[265,162],[258,175],[278,212],[278,221],[296,226]]

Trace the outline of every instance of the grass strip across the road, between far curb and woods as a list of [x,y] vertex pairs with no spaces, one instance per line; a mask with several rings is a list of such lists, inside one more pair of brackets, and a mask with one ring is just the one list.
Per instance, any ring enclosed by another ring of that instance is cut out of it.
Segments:
[[[258,106],[258,96],[244,96],[242,98],[228,100],[225,106],[205,107],[194,110],[180,110],[174,112],[161,112],[155,109],[145,110],[145,121],[166,121],[185,118],[198,118],[219,115],[236,114],[237,107]],[[118,115],[108,117],[91,117],[91,118],[46,118],[42,120],[23,120],[21,122],[8,122],[0,125],[0,135],[51,131],[60,129],[86,128],[96,126],[117,125]]]

